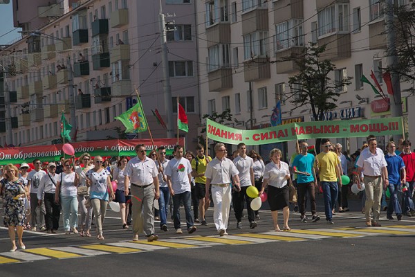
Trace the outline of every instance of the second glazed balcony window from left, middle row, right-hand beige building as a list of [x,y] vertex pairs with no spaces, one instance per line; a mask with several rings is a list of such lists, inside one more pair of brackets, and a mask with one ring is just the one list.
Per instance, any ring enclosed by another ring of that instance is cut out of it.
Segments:
[[254,32],[243,36],[243,58],[245,60],[267,55],[268,32]]

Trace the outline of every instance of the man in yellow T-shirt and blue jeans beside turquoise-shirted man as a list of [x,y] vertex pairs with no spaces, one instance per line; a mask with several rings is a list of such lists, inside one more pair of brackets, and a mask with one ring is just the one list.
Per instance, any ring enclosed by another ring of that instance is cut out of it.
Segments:
[[340,161],[335,152],[331,152],[331,143],[329,139],[322,139],[322,152],[315,159],[315,169],[320,174],[320,186],[323,188],[324,212],[328,224],[333,223],[333,206],[338,197],[338,184],[342,187],[342,178],[340,177]]

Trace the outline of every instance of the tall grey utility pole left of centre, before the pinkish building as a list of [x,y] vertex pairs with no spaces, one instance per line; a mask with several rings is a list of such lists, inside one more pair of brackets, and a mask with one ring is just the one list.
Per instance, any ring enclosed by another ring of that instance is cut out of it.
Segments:
[[161,11],[160,1],[160,37],[161,37],[161,62],[163,64],[163,91],[165,99],[165,111],[167,118],[167,138],[174,138],[173,108],[172,108],[172,87],[170,87],[169,60],[167,58],[167,36],[165,15]]

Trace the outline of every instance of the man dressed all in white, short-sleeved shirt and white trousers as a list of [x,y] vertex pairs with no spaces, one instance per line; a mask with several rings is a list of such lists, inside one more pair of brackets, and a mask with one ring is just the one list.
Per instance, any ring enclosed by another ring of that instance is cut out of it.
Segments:
[[233,186],[241,190],[239,184],[239,171],[230,159],[225,157],[225,145],[216,143],[214,152],[216,157],[208,163],[206,168],[206,193],[205,199],[210,196],[209,187],[212,184],[212,199],[214,203],[213,219],[216,230],[220,236],[227,235],[229,209],[231,199],[230,179],[233,179]]

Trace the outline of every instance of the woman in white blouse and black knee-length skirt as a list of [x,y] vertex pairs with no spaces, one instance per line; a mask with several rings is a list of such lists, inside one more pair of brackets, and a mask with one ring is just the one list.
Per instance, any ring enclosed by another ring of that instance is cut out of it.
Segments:
[[284,231],[290,231],[288,226],[288,217],[290,216],[288,180],[290,179],[290,170],[288,164],[281,161],[281,150],[274,148],[270,152],[270,163],[265,166],[264,182],[259,196],[264,193],[265,188],[268,188],[268,204],[271,208],[271,215],[273,215],[275,231],[281,231],[278,226],[278,210],[282,209],[284,215]]

